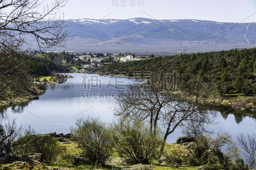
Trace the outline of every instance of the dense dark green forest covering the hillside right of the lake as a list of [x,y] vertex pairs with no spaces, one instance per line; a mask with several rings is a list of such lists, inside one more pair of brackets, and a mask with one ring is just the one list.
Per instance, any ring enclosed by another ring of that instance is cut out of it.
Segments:
[[256,48],[231,49],[229,51],[181,54],[154,57],[148,60],[126,63],[110,63],[94,68],[97,72],[126,72],[132,77],[132,71],[140,71],[143,66],[171,62],[181,80],[187,81],[195,76],[212,82],[219,88],[220,95],[226,93],[256,93]]

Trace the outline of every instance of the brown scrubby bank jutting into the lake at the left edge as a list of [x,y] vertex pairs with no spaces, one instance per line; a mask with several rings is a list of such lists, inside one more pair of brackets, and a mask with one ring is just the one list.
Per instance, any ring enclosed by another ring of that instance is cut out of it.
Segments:
[[36,86],[31,86],[27,91],[23,91],[23,93],[16,94],[10,98],[5,98],[4,100],[0,100],[0,106],[8,106],[31,100],[38,100],[39,97],[36,96],[36,94],[40,94],[42,92],[44,92],[44,90],[40,90]]

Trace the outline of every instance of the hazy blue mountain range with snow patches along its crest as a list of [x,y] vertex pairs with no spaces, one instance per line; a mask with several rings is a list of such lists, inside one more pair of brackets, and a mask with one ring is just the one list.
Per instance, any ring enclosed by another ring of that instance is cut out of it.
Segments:
[[137,54],[209,52],[256,45],[256,23],[227,23],[197,19],[156,20],[68,19],[65,47],[56,51]]

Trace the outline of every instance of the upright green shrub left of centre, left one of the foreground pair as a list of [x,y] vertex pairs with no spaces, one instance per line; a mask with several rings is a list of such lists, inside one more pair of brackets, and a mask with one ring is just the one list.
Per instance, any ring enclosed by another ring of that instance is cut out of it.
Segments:
[[84,151],[90,165],[104,165],[111,155],[114,140],[108,124],[90,116],[76,119],[76,127],[71,128],[72,140]]

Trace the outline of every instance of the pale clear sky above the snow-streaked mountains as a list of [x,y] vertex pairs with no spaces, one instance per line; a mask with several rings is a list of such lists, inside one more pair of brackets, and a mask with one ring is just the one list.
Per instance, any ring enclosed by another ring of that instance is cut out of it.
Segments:
[[[68,0],[62,11],[66,15],[64,19],[100,19],[113,12],[103,19],[153,17],[219,22],[239,22],[256,12],[256,0],[144,0],[144,5],[140,4],[139,0]],[[241,22],[256,22],[256,13]]]

